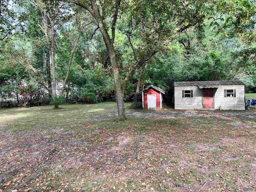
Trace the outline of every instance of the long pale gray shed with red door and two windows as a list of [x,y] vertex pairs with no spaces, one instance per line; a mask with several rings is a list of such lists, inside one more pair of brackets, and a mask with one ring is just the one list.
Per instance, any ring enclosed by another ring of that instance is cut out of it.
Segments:
[[174,82],[174,109],[245,110],[241,81]]

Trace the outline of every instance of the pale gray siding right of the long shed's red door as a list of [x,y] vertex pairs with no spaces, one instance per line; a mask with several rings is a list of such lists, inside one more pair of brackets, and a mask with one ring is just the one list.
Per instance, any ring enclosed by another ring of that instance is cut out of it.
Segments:
[[[224,89],[236,89],[236,97],[224,97]],[[244,85],[222,85],[222,88],[215,91],[214,108],[245,110]]]

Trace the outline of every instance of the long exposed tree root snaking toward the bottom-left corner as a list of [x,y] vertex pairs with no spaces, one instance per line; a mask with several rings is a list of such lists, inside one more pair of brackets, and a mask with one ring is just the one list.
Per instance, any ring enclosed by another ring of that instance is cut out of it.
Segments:
[[[50,156],[51,156],[55,151],[56,151],[56,149],[54,148],[54,149],[52,149],[52,150],[50,150],[50,151],[48,152],[48,154],[46,155],[46,161],[45,161],[46,164],[47,164],[48,161],[51,159]],[[13,188],[11,188],[11,189],[9,190],[9,192],[11,192],[12,190],[15,190],[15,189],[22,188],[24,185],[29,184],[32,180],[37,179],[37,178],[40,176],[40,174],[41,174],[42,172],[44,172],[45,170],[47,170],[47,169],[49,168],[49,164],[48,164],[48,166],[46,166],[46,167],[42,167],[42,168],[39,168],[39,167],[40,167],[40,165],[37,167],[37,170],[36,170],[36,172],[34,173],[33,176],[31,176],[30,178],[28,178],[28,179],[25,180],[24,182],[22,182],[22,183],[20,183],[20,184],[18,184],[18,185],[16,185],[16,186],[14,186]]]

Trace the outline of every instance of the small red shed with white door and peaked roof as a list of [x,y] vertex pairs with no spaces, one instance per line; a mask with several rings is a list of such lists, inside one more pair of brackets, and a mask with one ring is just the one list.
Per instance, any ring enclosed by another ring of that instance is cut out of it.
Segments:
[[142,90],[142,106],[144,109],[162,109],[162,94],[165,94],[161,88],[151,85]]

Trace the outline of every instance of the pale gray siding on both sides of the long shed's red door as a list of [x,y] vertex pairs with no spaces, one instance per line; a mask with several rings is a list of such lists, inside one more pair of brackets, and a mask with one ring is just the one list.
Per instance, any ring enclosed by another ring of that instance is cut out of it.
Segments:
[[[224,89],[236,89],[236,97],[224,97]],[[182,98],[182,90],[193,90],[193,98]],[[245,110],[244,85],[222,85],[215,88],[214,108],[222,110]],[[202,109],[202,89],[198,86],[175,86],[174,109]]]

